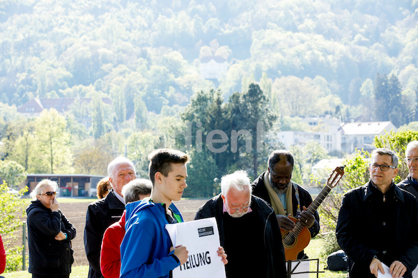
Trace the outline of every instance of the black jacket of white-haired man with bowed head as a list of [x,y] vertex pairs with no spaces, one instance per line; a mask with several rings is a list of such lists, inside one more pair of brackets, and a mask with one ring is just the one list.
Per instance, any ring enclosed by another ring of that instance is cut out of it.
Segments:
[[[279,225],[277,224],[276,216],[272,208],[256,196],[251,196],[251,213],[258,213],[258,216],[263,219],[264,224],[264,243],[265,248],[268,250],[268,276],[269,278],[286,277],[286,265],[284,259],[283,243],[281,242],[281,234]],[[202,218],[215,217],[217,220],[217,226],[219,230],[219,238],[221,246],[224,246],[224,231],[223,221],[223,200],[221,195],[217,195],[210,199],[206,204],[201,206],[197,211],[194,220]],[[237,231],[231,231],[236,233]],[[249,235],[249,239],[251,236]],[[249,245],[249,253],[243,254],[243,256],[254,256],[251,254],[251,243],[242,243]],[[256,266],[253,266],[256,267]]]

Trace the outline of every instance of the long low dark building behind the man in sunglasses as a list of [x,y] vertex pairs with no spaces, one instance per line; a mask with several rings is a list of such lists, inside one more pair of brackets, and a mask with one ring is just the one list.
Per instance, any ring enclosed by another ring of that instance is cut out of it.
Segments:
[[102,178],[104,176],[93,174],[28,174],[21,188],[27,186],[28,193],[31,193],[42,179],[51,179],[58,183],[60,196],[90,197],[95,196],[98,182]]

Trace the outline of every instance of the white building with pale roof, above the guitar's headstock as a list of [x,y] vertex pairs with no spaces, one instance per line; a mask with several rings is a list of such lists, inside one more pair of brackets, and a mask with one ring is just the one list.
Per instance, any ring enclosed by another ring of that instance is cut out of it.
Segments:
[[370,152],[373,138],[385,132],[396,131],[392,122],[348,122],[341,124],[341,150],[348,154],[355,148]]

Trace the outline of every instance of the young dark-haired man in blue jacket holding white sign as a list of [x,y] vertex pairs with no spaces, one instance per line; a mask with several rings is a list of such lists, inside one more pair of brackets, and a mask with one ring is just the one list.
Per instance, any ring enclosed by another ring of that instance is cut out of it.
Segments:
[[[126,206],[126,234],[121,244],[121,277],[171,277],[171,270],[187,261],[185,246],[173,247],[166,224],[183,222],[172,204],[187,187],[187,154],[157,149],[150,154],[148,175],[153,183],[150,198]],[[226,263],[222,247],[219,256]]]

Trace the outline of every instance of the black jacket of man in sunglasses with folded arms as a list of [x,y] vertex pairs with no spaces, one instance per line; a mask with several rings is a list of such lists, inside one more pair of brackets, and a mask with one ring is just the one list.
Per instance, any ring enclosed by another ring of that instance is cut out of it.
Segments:
[[[40,201],[26,208],[29,243],[29,272],[33,275],[68,275],[71,272],[71,242],[75,227],[61,211],[52,212]],[[67,239],[56,240],[60,231]]]

